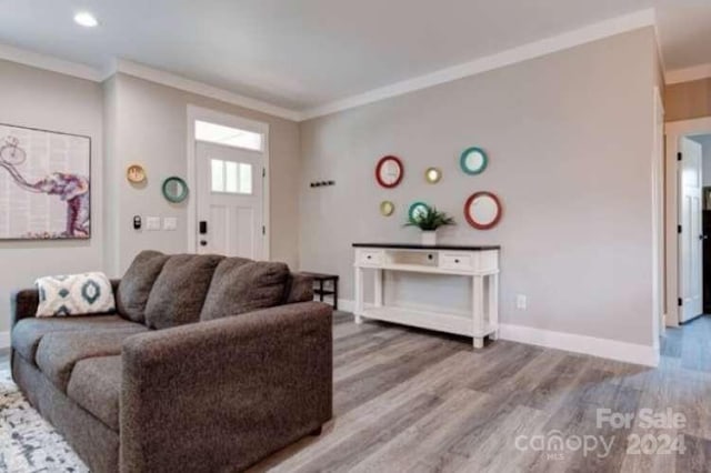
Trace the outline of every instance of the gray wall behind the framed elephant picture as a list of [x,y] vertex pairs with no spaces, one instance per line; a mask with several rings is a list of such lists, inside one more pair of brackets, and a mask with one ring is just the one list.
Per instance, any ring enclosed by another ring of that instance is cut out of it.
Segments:
[[100,84],[0,60],[0,122],[91,137],[92,200],[89,241],[0,241],[0,332],[10,326],[12,289],[39,275],[103,268],[101,113]]

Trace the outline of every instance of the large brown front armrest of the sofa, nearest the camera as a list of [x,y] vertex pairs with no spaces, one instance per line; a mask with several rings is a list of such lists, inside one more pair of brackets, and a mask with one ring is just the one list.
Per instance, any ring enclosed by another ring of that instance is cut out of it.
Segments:
[[241,471],[332,415],[332,310],[304,302],[129,338],[121,471]]

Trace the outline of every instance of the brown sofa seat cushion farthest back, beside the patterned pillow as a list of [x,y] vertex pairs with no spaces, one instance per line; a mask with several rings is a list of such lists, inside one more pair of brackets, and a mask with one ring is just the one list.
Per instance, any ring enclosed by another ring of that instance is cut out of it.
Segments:
[[37,348],[48,333],[84,330],[144,329],[118,315],[91,315],[50,319],[22,319],[12,329],[12,348],[28,362],[36,364]]

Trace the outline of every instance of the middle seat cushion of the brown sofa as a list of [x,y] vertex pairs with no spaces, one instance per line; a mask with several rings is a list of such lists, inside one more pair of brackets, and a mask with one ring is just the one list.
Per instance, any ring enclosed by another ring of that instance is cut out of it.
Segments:
[[66,392],[74,364],[88,358],[119,355],[126,339],[147,331],[134,324],[126,330],[48,333],[37,349],[37,365],[58,390]]

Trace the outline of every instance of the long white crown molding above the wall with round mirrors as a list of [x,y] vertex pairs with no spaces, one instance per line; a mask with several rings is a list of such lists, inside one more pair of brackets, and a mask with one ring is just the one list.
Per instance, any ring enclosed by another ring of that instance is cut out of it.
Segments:
[[495,54],[482,57],[470,62],[441,69],[429,74],[408,79],[401,82],[374,89],[347,99],[336,100],[333,102],[319,105],[307,110],[302,119],[309,120],[330,113],[340,112],[352,109],[354,107],[378,102],[391,97],[402,95],[417,90],[427,89],[433,85],[463,79],[470,76],[480,74],[482,72],[494,69],[504,68],[518,62],[528,61],[530,59],[540,58],[553,52],[574,48],[600,39],[609,38],[615,34],[633,31],[640,28],[652,27],[657,22],[657,14],[653,8],[640,10],[630,14],[611,18],[598,23],[593,23],[577,30],[572,30],[562,34],[558,34],[543,40],[530,42],[517,48],[498,52]]

